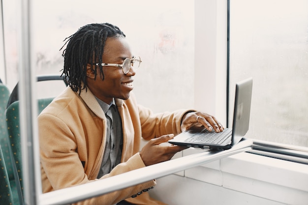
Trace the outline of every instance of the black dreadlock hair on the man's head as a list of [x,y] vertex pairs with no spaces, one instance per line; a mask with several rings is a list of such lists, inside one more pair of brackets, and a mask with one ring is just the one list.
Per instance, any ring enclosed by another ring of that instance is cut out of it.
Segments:
[[[112,24],[89,24],[78,29],[77,32],[64,39],[66,41],[63,47],[62,57],[64,57],[64,66],[62,75],[67,80],[70,88],[79,94],[81,89],[87,90],[87,64],[92,63],[89,60],[97,60],[101,73],[101,79],[104,80],[102,56],[104,53],[105,42],[108,37],[125,37],[125,34]],[[95,66],[95,78],[97,75],[97,66]],[[61,75],[61,76],[62,76]],[[81,82],[84,83],[81,88]]]

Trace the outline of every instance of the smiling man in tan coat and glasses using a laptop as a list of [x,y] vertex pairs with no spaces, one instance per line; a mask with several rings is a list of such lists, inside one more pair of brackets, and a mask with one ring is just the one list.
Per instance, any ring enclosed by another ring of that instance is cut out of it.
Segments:
[[[159,144],[196,124],[223,129],[204,113],[153,114],[138,105],[131,90],[141,59],[131,53],[118,27],[86,25],[66,43],[63,75],[69,87],[38,117],[44,193],[170,160],[185,147]],[[150,141],[139,151],[141,137]],[[163,205],[149,197],[155,184],[148,181],[77,204]]]

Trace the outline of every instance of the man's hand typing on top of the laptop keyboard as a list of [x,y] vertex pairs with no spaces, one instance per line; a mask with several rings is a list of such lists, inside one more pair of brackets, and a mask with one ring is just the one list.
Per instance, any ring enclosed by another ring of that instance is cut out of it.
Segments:
[[214,128],[216,132],[220,132],[224,129],[220,122],[218,122],[218,120],[214,116],[210,116],[202,112],[191,112],[186,113],[183,116],[181,130],[183,132],[190,127],[200,127],[202,125],[210,131],[212,131],[212,128]]

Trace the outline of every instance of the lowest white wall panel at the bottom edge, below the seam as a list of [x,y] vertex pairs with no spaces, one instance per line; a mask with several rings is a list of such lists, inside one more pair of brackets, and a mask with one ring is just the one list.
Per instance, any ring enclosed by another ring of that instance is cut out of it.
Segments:
[[168,205],[284,205],[176,175],[159,178],[157,183],[151,195]]

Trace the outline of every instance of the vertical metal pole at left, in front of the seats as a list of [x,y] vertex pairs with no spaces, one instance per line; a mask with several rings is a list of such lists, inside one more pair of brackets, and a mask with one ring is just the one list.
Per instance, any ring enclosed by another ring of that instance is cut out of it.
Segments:
[[[37,190],[39,190],[40,177],[38,137],[36,131],[37,103],[33,84],[35,82],[34,67],[31,66],[31,2],[20,1],[19,23],[19,112],[23,163],[24,203],[36,205]],[[39,181],[38,181],[39,180]]]

